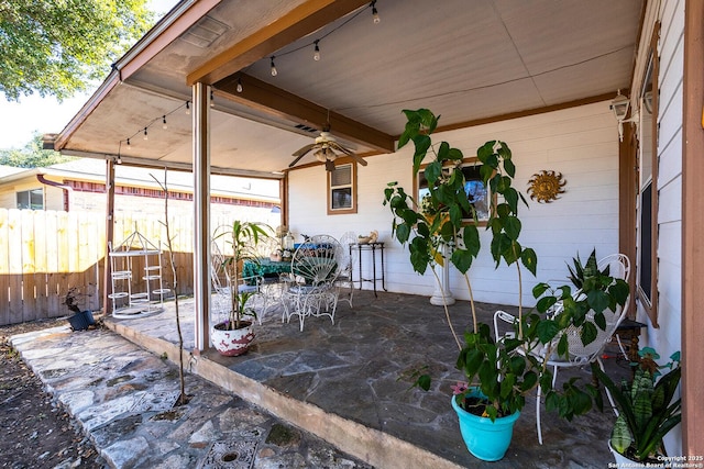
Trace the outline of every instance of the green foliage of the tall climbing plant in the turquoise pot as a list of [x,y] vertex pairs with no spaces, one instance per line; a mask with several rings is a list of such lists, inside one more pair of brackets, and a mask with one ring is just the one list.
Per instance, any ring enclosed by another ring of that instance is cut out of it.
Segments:
[[[466,398],[472,392],[471,388],[476,387],[486,399],[482,412],[472,412],[495,420],[497,416],[520,411],[526,403],[526,395],[540,386],[561,416],[571,420],[574,415],[588,412],[592,400],[598,397],[597,390],[591,384],[580,387],[575,380],[568,381],[561,392],[553,390],[552,372],[547,367],[547,357],[550,357],[550,354],[541,356],[531,351],[539,346],[548,347],[550,350],[549,347],[556,340],[561,343],[561,332],[569,326],[583,324],[591,305],[603,312],[603,295],[587,291],[584,301],[579,299],[572,302],[568,298],[571,298],[568,287],[560,290],[560,295],[541,299],[542,308],[532,312],[525,313],[519,305],[514,333],[496,342],[490,326],[477,321],[472,284],[468,276],[473,260],[480,254],[481,237],[475,212],[464,191],[464,175],[460,169],[462,150],[452,147],[448,142],[432,143],[430,135],[437,129],[439,118],[431,111],[405,110],[404,113],[407,123],[398,146],[400,148],[413,142],[415,175],[430,154],[430,161],[424,169],[428,180],[428,194],[418,202],[397,182],[389,182],[384,192],[384,205],[388,205],[394,215],[393,233],[396,239],[408,247],[415,271],[424,273],[431,268],[436,281],[440,282],[435,267],[450,261],[464,278],[472,324],[464,333],[463,342],[459,339],[450,321],[449,310],[444,308],[448,324],[460,350],[457,367],[468,379],[466,384],[458,383],[453,387],[458,404],[470,411]],[[524,268],[535,276],[538,259],[534,249],[522,246],[519,242],[522,225],[518,212],[521,205],[527,205],[527,201],[513,187],[516,167],[512,150],[505,142],[490,141],[477,148],[476,155],[482,164],[482,180],[492,194],[486,223],[486,231],[491,235],[490,252],[496,267],[503,261],[516,268],[518,298],[522,298]],[[468,223],[463,220],[463,213],[473,213],[473,221]],[[581,263],[579,264],[581,266]],[[591,260],[587,264],[588,273]],[[582,277],[584,270],[581,268]],[[595,291],[598,290],[597,284],[610,286],[614,280],[606,273],[596,279],[593,279],[592,275],[587,275],[586,278],[586,283],[594,286]],[[587,289],[591,288],[588,286]],[[626,284],[626,297],[627,287]],[[539,293],[543,294],[546,290]],[[559,317],[552,317],[549,315],[550,306],[558,301],[565,304],[566,312]],[[610,300],[605,303],[610,304]],[[583,338],[593,340],[588,333]],[[556,353],[566,356],[566,342],[564,345]],[[430,388],[431,377],[427,372],[419,371],[414,377],[416,386],[425,390]]]

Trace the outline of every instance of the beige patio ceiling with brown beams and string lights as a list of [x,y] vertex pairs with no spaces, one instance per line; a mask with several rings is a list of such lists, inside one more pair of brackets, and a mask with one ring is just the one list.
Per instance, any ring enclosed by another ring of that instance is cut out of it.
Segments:
[[189,168],[185,103],[202,81],[213,86],[213,171],[280,177],[327,121],[355,152],[391,153],[403,109],[462,126],[615,96],[630,82],[642,3],[378,0],[375,24],[369,1],[186,0],[116,64],[55,146]]

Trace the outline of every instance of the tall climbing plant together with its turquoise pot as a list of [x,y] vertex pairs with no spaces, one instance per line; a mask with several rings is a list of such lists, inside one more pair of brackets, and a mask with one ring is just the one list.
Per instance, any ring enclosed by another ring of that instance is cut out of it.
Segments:
[[[566,324],[552,321],[546,314],[524,314],[519,305],[516,334],[513,338],[496,342],[487,324],[477,321],[472,284],[468,270],[481,249],[479,223],[464,189],[464,175],[460,169],[463,154],[447,142],[433,145],[430,135],[438,118],[427,109],[405,110],[407,123],[399,137],[399,148],[413,142],[415,145],[413,170],[417,175],[429,152],[432,159],[425,167],[428,194],[418,203],[396,182],[385,189],[384,204],[391,208],[394,221],[392,232],[396,239],[408,246],[414,270],[424,273],[428,267],[450,261],[464,277],[470,298],[472,322],[461,342],[444,313],[459,348],[457,367],[464,372],[468,384],[457,386],[452,406],[458,412],[460,428],[468,449],[485,460],[503,458],[513,434],[513,423],[525,405],[526,394],[540,386],[544,392],[552,388],[552,373],[544,365],[544,357],[528,353],[536,344],[550,344]],[[483,182],[493,197],[486,230],[491,234],[491,255],[498,267],[502,260],[515,266],[518,276],[518,298],[522,298],[522,268],[536,275],[536,253],[519,243],[521,222],[520,203],[527,205],[522,194],[513,186],[516,172],[512,152],[505,142],[490,141],[477,149],[482,163]],[[466,223],[466,213],[474,213],[474,222]],[[446,258],[447,253],[447,258]],[[444,303],[444,302],[443,302]],[[431,378],[416,373],[416,384],[428,390]],[[594,392],[574,387],[571,392],[556,393],[562,402],[560,413],[565,416],[585,413],[591,409]],[[586,402],[588,406],[584,404]],[[471,423],[476,427],[470,428]],[[505,425],[506,424],[506,425]],[[503,427],[501,432],[497,429]],[[487,433],[484,433],[484,432]],[[497,443],[490,442],[498,436]]]

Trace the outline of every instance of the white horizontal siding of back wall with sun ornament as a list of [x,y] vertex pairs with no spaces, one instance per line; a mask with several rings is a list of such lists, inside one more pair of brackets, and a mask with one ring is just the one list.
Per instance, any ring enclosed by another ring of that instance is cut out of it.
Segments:
[[[618,134],[608,104],[600,102],[435,135],[435,141],[447,139],[465,157],[475,156],[476,148],[488,139],[507,142],[517,166],[515,187],[528,200],[527,182],[534,174],[554,170],[566,179],[565,193],[559,200],[547,204],[529,200],[530,209],[521,209],[521,243],[534,247],[539,259],[537,279],[524,271],[524,304],[535,303],[530,290],[538,280],[563,279],[565,263],[578,253],[585,259],[593,248],[600,257],[618,249]],[[363,234],[377,230],[380,239],[386,242],[387,289],[429,295],[435,289],[432,275],[421,277],[413,271],[407,250],[392,239],[391,212],[382,205],[389,181],[398,181],[411,191],[411,157],[409,145],[393,155],[367,158],[369,166],[359,167],[359,210],[352,215],[326,216],[322,167],[292,171],[290,225],[296,234],[340,235],[348,230]],[[517,304],[515,267],[502,265],[495,269],[486,233],[482,239],[485,249],[470,270],[474,298]],[[450,286],[455,298],[469,299],[457,271],[451,271]]]

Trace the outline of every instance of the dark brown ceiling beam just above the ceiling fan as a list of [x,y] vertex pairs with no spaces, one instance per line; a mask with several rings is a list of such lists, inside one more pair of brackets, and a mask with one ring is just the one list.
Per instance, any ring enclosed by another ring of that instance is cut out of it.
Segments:
[[[239,79],[246,83],[241,92],[237,91]],[[223,97],[227,99],[270,115],[293,120],[318,130],[322,130],[323,125],[329,123],[331,132],[342,138],[383,153],[393,153],[395,149],[393,136],[249,75],[234,74],[216,83],[216,88],[224,91]]]

